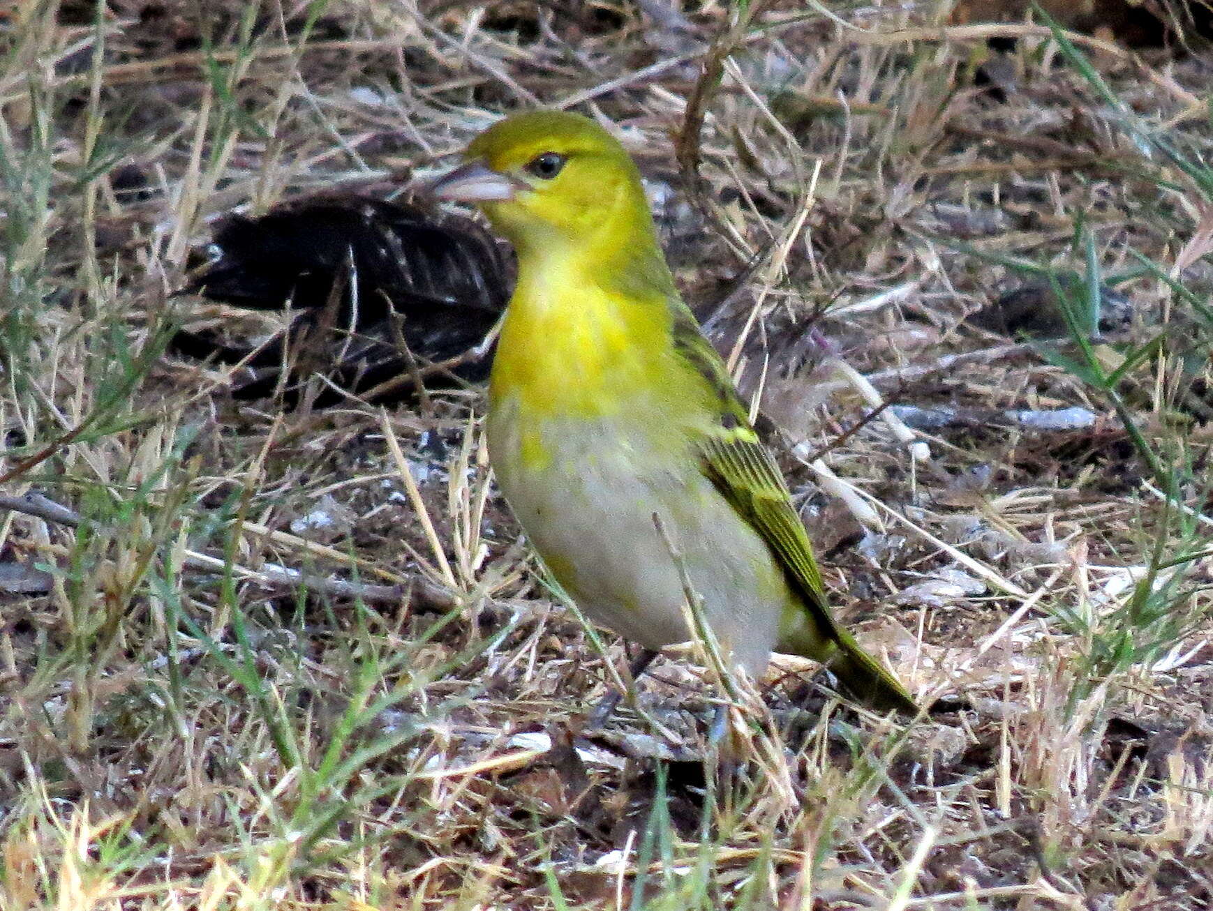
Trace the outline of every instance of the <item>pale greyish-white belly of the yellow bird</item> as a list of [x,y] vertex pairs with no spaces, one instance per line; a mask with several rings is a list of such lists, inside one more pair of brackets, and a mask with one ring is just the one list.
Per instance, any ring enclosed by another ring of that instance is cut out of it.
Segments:
[[649,649],[691,638],[682,577],[656,514],[722,647],[761,674],[793,596],[767,545],[694,457],[678,456],[668,440],[664,451],[645,446],[651,427],[630,433],[609,419],[540,420],[497,408],[489,452],[506,500],[577,605]]

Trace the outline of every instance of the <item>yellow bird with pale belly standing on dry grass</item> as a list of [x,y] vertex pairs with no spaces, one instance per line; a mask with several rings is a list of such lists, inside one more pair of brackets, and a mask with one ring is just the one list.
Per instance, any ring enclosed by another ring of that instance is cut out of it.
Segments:
[[623,147],[577,114],[516,114],[433,189],[479,205],[518,251],[489,457],[577,605],[649,653],[691,638],[657,516],[736,666],[758,678],[773,648],[804,655],[855,699],[917,712],[831,615],[784,478],[678,296]]

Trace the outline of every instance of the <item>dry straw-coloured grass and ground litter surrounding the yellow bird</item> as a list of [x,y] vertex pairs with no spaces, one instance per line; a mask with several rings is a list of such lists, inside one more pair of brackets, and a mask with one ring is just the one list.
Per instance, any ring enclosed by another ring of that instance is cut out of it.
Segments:
[[[0,516],[0,907],[1207,907],[1211,67],[946,6],[6,13],[0,476],[70,512]],[[1003,98],[993,33],[1026,35]],[[621,126],[839,610],[970,705],[904,731],[773,672],[722,767],[667,659],[570,740],[610,671],[475,391],[281,412],[161,357],[213,312],[170,296],[213,216],[423,172],[536,101]],[[959,326],[1030,267],[1133,326]],[[839,364],[939,419],[929,454]]]

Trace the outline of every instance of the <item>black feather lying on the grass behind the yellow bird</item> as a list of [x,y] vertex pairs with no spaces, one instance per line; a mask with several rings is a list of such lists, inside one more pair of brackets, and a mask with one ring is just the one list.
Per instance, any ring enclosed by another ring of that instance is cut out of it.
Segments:
[[[258,311],[289,303],[298,315],[289,334],[256,353],[252,346],[187,331],[177,334],[171,351],[221,363],[249,358],[250,366],[272,368],[283,365],[287,346],[302,343],[311,363],[326,364],[334,383],[353,393],[409,372],[395,343],[393,313],[403,318],[404,341],[415,360],[445,361],[467,355],[484,340],[512,286],[501,246],[475,222],[376,199],[313,198],[258,218],[232,216],[220,226],[213,245],[218,258],[182,294]],[[483,380],[488,366],[488,357],[469,358],[445,381]],[[289,391],[306,378],[298,372],[287,377]],[[442,375],[427,376],[434,385],[443,381]],[[234,394],[262,397],[278,382],[277,375],[262,371]],[[406,394],[404,383],[377,400]]]

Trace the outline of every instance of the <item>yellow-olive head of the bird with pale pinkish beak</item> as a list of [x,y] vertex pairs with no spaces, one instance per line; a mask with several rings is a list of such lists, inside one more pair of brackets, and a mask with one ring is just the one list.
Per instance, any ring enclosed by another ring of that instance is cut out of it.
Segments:
[[434,194],[480,206],[519,254],[654,238],[636,164],[580,114],[514,114],[477,136],[465,159],[433,184]]

